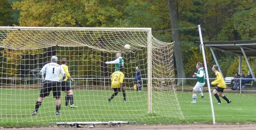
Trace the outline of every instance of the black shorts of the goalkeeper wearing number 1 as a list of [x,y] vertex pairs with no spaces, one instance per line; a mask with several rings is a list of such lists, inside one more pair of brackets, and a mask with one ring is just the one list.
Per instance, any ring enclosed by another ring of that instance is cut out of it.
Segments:
[[40,97],[49,96],[51,91],[54,98],[61,97],[60,83],[56,81],[44,81],[43,88],[40,91]]

